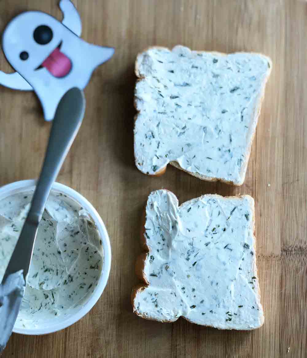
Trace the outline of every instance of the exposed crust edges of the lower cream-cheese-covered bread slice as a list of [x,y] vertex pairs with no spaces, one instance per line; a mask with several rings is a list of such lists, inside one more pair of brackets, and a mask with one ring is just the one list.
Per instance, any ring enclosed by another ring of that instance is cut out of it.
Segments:
[[[169,192],[169,190],[167,189],[164,189],[166,191]],[[208,194],[207,194],[208,195]],[[251,203],[253,205],[252,208],[253,208],[253,225],[254,225],[254,230],[253,230],[253,236],[254,236],[254,246],[253,246],[253,250],[254,252],[256,253],[256,238],[255,238],[255,203],[254,203],[254,199],[250,196],[250,195],[231,195],[231,196],[228,196],[228,197],[223,197],[222,195],[219,195],[219,194],[209,194],[209,195],[215,195],[217,197],[220,197],[220,198],[223,198],[223,199],[231,199],[231,198],[235,198],[235,199],[238,199],[238,198],[248,198]],[[193,200],[193,199],[192,199]],[[178,208],[180,207],[181,205],[178,206]],[[147,319],[147,320],[150,320],[150,321],[158,321],[158,322],[161,322],[161,323],[172,323],[172,322],[175,322],[179,319],[179,317],[176,317],[174,320],[158,320],[158,319],[155,319],[155,318],[152,318],[152,317],[149,317],[149,316],[145,316],[145,315],[142,315],[138,312],[137,310],[137,307],[135,305],[135,298],[136,298],[136,295],[138,294],[138,292],[141,292],[143,290],[145,290],[148,286],[149,286],[149,281],[147,280],[147,277],[145,275],[145,272],[144,272],[144,268],[145,268],[145,260],[146,258],[148,257],[148,254],[150,252],[150,248],[148,247],[147,243],[146,243],[146,240],[145,240],[145,224],[146,224],[146,205],[145,205],[145,208],[144,208],[144,211],[143,211],[143,219],[142,219],[142,226],[141,226],[141,235],[140,235],[140,241],[141,241],[141,247],[143,249],[143,252],[138,256],[138,258],[136,259],[136,263],[135,263],[135,273],[136,273],[136,276],[142,281],[141,284],[138,284],[136,285],[135,287],[133,287],[132,291],[131,291],[131,296],[130,296],[130,299],[131,299],[131,305],[133,307],[133,313],[136,314],[137,316],[141,317],[141,318],[144,318],[144,319]],[[256,265],[256,255],[255,255],[255,260],[253,262],[253,270],[256,274],[256,277],[258,279],[258,270],[257,270],[257,265]],[[260,303],[260,287],[259,287],[259,283],[257,283],[257,286],[258,286],[258,290],[257,290],[257,300],[259,301]],[[182,318],[184,318],[185,320],[187,320],[188,322],[190,323],[194,323],[193,321],[189,320],[188,318],[184,317],[184,316],[181,316]],[[260,324],[260,326],[258,328],[260,328],[264,323],[264,317],[262,317],[262,322]],[[199,323],[197,323],[198,325],[201,325]],[[203,325],[203,326],[207,326],[207,327],[212,327],[212,328],[217,328],[215,326],[212,326],[212,325]],[[217,328],[217,329],[222,329],[222,328]],[[227,329],[227,328],[225,328]],[[223,330],[225,330],[223,329]],[[252,330],[252,329],[255,329],[255,328],[250,328],[250,329],[245,329],[245,330]],[[227,329],[229,330],[229,329]]]

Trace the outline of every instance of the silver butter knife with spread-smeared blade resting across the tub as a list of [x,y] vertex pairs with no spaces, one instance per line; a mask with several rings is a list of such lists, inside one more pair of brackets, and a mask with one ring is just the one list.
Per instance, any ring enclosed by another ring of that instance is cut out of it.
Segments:
[[84,111],[85,98],[79,88],[69,89],[57,107],[31,207],[0,284],[0,353],[10,338],[19,313],[38,224],[52,185],[81,126]]

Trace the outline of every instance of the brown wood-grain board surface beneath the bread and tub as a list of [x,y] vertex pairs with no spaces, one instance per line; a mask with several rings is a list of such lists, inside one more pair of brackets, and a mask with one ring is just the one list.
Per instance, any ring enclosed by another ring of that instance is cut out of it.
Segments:
[[[299,0],[75,0],[82,38],[116,48],[85,89],[86,114],[58,176],[84,195],[109,232],[112,268],[101,299],[61,332],[13,334],[2,357],[307,356],[307,3]],[[1,0],[0,30],[16,14],[43,10],[62,19],[57,0]],[[150,45],[269,55],[267,84],[245,184],[208,183],[169,166],[141,174],[133,155],[136,54]],[[82,54],[80,54],[82,56]],[[0,68],[11,72],[3,53]],[[50,124],[33,93],[0,87],[0,185],[36,178]],[[256,203],[257,260],[265,323],[253,332],[219,331],[179,319],[160,324],[130,306],[138,283],[141,212],[167,188],[180,202],[206,193],[250,194]],[[1,334],[1,333],[0,333]]]

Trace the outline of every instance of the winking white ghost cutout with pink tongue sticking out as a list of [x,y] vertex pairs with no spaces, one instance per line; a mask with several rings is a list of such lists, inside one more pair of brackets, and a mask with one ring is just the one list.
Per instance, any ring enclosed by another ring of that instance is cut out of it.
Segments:
[[53,119],[64,93],[83,89],[93,70],[109,60],[114,49],[82,40],[81,19],[69,0],[61,0],[62,23],[40,11],[27,11],[6,26],[2,47],[15,73],[0,71],[0,84],[34,91],[45,120]]

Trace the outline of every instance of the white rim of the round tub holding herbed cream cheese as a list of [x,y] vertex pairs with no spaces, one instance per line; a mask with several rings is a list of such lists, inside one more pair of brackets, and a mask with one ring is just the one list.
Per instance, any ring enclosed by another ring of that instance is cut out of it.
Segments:
[[[5,185],[4,187],[0,188],[0,200],[16,193],[34,190],[35,183],[36,183],[35,180],[22,180],[20,182],[15,182]],[[80,318],[86,315],[88,311],[90,311],[91,308],[95,305],[95,303],[99,300],[102,292],[105,289],[107,280],[109,278],[110,268],[111,268],[111,246],[110,246],[109,236],[107,234],[105,225],[101,217],[99,216],[99,214],[97,213],[97,211],[95,210],[95,208],[92,206],[91,203],[89,203],[81,194],[77,193],[75,190],[67,187],[66,185],[54,183],[52,190],[66,194],[69,198],[75,200],[90,214],[93,221],[95,222],[96,227],[100,233],[102,246],[104,249],[104,257],[103,257],[104,261],[103,261],[101,276],[95,290],[88,297],[87,301],[83,305],[80,305],[80,308],[69,317],[67,316],[61,317],[60,315],[56,323],[54,322],[50,323],[46,321],[44,322],[43,326],[35,327],[31,329],[14,326],[13,332],[15,333],[31,334],[31,335],[47,334],[47,333],[57,332],[77,322]]]

